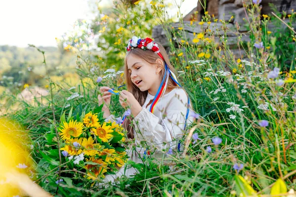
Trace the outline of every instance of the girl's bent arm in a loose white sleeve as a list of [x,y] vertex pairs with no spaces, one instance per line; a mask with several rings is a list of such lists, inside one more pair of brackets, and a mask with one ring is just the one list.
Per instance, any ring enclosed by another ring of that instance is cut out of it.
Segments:
[[[135,137],[140,141],[146,141],[148,145],[154,146],[158,151],[167,147],[174,148],[178,140],[182,137],[185,126],[185,117],[187,112],[187,96],[185,91],[180,89],[176,95],[171,98],[162,114],[162,121],[159,124],[157,116],[143,108],[134,119],[136,131]],[[164,143],[165,142],[165,143]],[[170,144],[170,142],[172,142]]]

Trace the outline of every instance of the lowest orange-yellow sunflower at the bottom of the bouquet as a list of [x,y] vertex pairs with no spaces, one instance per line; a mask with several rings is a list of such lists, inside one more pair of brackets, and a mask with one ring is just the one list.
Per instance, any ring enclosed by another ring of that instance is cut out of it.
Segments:
[[98,176],[102,176],[105,178],[104,173],[107,172],[107,163],[104,162],[102,159],[97,159],[94,157],[91,157],[90,159],[85,159],[86,162],[93,162],[97,165],[93,164],[87,164],[85,165],[87,169],[87,174],[89,175],[87,179],[93,179],[95,180]]

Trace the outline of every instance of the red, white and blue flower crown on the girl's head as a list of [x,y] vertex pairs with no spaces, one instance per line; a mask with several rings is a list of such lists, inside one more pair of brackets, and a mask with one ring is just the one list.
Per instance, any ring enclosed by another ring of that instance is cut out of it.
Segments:
[[133,36],[132,39],[130,39],[130,41],[128,42],[126,50],[130,51],[134,48],[140,48],[143,50],[149,49],[149,50],[153,51],[154,53],[156,53],[157,55],[159,55],[159,57],[161,57],[162,60],[164,60],[161,53],[159,53],[160,51],[159,51],[158,44],[156,44],[149,37],[141,38],[141,37]]

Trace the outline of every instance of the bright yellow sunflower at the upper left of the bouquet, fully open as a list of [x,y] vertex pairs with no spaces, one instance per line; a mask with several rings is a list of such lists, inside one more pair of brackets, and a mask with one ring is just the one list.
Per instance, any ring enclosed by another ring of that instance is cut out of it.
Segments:
[[83,130],[83,124],[74,120],[71,120],[69,124],[65,121],[60,129],[61,138],[64,140],[70,140],[71,136],[79,137]]

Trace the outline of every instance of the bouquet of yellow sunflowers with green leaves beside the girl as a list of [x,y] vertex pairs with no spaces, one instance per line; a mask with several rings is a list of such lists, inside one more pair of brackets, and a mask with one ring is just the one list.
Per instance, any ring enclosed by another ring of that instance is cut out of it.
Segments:
[[67,120],[65,113],[62,115],[58,128],[61,157],[69,163],[67,166],[93,180],[114,173],[127,161],[123,128],[105,122],[99,109],[81,114],[75,110],[73,116],[71,109]]

